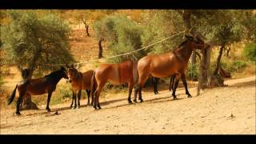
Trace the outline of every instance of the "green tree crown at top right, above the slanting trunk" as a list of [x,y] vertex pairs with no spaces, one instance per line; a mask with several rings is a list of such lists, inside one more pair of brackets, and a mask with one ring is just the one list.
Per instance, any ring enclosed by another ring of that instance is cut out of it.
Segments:
[[239,42],[245,36],[242,10],[193,10],[192,15],[193,26],[212,46]]

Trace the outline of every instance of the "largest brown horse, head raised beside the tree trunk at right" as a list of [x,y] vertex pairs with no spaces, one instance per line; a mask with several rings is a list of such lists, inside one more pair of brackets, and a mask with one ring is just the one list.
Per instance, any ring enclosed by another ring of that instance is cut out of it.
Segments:
[[[176,74],[173,96],[176,99],[175,91],[178,86],[178,80],[182,78],[183,85],[186,89],[186,94],[191,98],[191,94],[187,89],[185,70],[187,63],[190,59],[192,51],[197,49],[203,49],[205,43],[202,39],[194,36],[186,35],[186,41],[182,42],[177,49],[173,52],[160,55],[147,55],[138,61],[138,85],[134,92],[134,102],[137,102],[137,94],[139,94],[139,100],[142,100],[142,87],[144,86],[146,79],[150,75],[157,78],[168,77],[170,75]],[[172,78],[171,78],[172,79]]]

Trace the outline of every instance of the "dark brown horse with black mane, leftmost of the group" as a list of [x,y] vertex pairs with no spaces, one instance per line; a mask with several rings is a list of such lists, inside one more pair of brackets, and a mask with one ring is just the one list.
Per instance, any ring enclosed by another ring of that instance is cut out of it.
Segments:
[[10,98],[8,99],[8,105],[10,105],[10,103],[14,101],[16,90],[18,89],[19,97],[16,105],[16,115],[21,115],[19,111],[19,106],[22,102],[24,95],[39,95],[48,93],[46,110],[50,112],[49,103],[51,94],[54,92],[54,90],[56,89],[56,85],[62,78],[68,78],[64,67],[61,67],[61,70],[54,71],[43,78],[26,79],[22,82],[19,82],[16,85]]

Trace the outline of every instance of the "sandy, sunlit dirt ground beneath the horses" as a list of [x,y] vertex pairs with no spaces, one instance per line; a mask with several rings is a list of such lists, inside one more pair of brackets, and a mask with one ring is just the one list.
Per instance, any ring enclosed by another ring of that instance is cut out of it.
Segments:
[[[178,100],[168,90],[143,91],[145,102],[128,104],[127,94],[100,98],[102,110],[51,106],[52,112],[1,110],[1,134],[256,134],[255,75],[226,80],[227,87],[202,91],[189,87],[193,98],[178,88]],[[58,111],[58,114],[54,114]]]

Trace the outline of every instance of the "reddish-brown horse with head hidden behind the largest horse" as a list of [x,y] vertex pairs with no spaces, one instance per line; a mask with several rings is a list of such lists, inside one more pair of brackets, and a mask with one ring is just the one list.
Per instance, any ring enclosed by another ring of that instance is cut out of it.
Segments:
[[98,109],[101,109],[98,98],[106,82],[110,82],[113,85],[128,83],[128,102],[132,103],[130,95],[134,88],[134,83],[137,82],[137,78],[137,62],[125,61],[118,64],[102,64],[98,66],[98,68],[94,70],[92,77],[91,95],[94,95],[94,109],[96,110],[97,106]]

